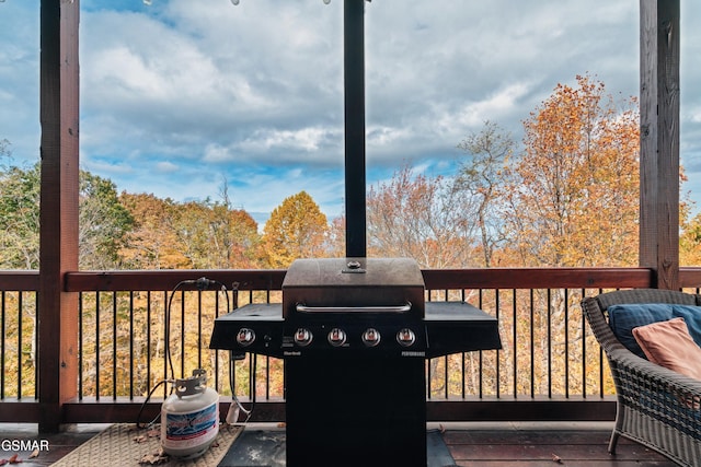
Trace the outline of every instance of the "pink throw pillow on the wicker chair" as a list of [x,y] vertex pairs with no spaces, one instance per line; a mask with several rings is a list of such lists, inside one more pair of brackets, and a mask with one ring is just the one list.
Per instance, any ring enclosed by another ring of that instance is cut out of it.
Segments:
[[651,362],[701,381],[701,347],[683,318],[633,328],[633,337]]

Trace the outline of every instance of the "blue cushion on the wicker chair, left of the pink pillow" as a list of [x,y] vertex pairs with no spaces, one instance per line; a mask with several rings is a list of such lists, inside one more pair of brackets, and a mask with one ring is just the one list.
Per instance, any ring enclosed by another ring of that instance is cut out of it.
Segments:
[[[674,306],[668,303],[630,303],[608,307],[609,326],[618,340],[637,357],[646,359],[643,349],[633,337],[633,328],[675,317]],[[680,311],[679,313],[688,313]]]

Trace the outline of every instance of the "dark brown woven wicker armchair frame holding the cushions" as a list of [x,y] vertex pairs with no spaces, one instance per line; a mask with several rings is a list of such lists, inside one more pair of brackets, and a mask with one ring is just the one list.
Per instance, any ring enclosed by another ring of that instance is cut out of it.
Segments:
[[616,454],[618,439],[624,436],[679,465],[699,467],[701,381],[641,359],[617,339],[608,324],[607,308],[632,303],[701,305],[701,295],[645,289],[602,293],[582,302],[616,385],[617,415],[609,453]]

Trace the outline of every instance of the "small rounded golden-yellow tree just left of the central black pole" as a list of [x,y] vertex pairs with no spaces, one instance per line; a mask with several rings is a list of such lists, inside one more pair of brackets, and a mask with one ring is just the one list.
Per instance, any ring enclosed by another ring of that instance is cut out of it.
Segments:
[[326,215],[307,191],[286,198],[263,229],[262,256],[271,268],[286,268],[292,260],[324,255],[329,230]]

